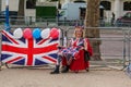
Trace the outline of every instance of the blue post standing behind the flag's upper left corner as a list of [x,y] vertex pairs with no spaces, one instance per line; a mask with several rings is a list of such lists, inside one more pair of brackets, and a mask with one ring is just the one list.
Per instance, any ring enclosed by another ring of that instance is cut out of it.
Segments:
[[4,29],[10,30],[10,23],[9,23],[9,0],[5,1],[5,24]]

